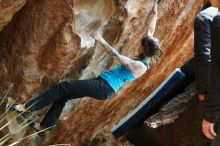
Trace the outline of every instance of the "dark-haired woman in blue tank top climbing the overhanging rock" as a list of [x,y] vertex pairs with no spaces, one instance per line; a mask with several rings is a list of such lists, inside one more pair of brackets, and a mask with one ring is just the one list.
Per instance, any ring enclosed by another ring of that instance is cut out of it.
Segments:
[[152,59],[158,58],[162,54],[158,40],[153,37],[157,20],[157,0],[154,1],[151,15],[147,35],[141,40],[142,47],[138,49],[138,55],[135,59],[121,55],[99,33],[93,32],[91,36],[99,41],[109,54],[115,56],[121,64],[101,73],[97,78],[59,82],[27,103],[11,104],[8,105],[8,108],[20,113],[25,118],[29,118],[32,112],[52,104],[40,123],[32,123],[32,127],[39,131],[57,123],[68,100],[85,96],[105,100],[117,92],[125,83],[141,77],[150,68]]

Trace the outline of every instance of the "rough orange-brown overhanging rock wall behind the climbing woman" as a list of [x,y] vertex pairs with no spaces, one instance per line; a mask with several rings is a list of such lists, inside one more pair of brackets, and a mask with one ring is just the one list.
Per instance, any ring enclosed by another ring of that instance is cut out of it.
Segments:
[[[1,1],[0,7],[7,2]],[[20,11],[13,7],[7,14],[14,15],[11,22],[0,18],[0,28],[5,26],[0,32],[0,92],[13,83],[10,95],[22,102],[59,80],[90,78],[113,67],[118,62],[88,36],[94,29],[122,54],[132,56],[146,33],[152,4],[152,0],[29,0]],[[202,4],[202,0],[160,0],[155,35],[164,54],[158,64],[109,100],[85,98],[74,110],[72,103],[67,104],[68,112],[41,145],[129,145],[125,137],[115,139],[110,129],[192,57],[193,21]]]

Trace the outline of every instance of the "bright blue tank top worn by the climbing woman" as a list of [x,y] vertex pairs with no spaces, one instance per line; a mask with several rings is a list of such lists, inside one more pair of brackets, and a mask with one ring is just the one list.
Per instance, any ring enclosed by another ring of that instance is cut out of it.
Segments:
[[[147,66],[147,69],[150,68],[149,62],[145,60],[141,60],[141,62]],[[101,73],[100,77],[107,81],[115,92],[118,91],[124,84],[135,80],[132,72],[121,64],[117,65],[112,70]]]

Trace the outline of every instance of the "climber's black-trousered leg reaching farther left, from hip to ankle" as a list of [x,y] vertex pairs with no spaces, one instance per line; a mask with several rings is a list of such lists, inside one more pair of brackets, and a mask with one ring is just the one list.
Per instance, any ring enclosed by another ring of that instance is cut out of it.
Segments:
[[113,93],[113,89],[101,78],[62,81],[44,93],[31,99],[25,107],[33,112],[58,100],[66,101],[85,96],[104,100]]

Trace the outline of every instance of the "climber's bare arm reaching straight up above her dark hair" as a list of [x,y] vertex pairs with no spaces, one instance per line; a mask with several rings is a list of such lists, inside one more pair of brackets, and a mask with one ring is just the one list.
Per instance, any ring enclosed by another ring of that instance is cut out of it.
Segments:
[[151,20],[150,20],[150,24],[147,30],[147,36],[153,36],[155,29],[156,29],[156,24],[157,24],[157,1],[158,0],[154,0],[154,6],[151,10]]

